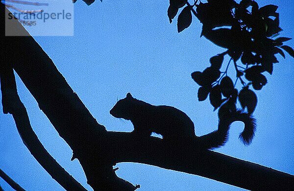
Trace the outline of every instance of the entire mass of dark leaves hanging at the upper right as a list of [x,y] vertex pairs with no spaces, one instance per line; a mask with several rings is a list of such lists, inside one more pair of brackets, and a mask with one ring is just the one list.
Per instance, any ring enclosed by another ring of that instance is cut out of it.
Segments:
[[[198,0],[197,0],[198,1]],[[206,3],[197,1],[191,5],[187,0],[170,0],[168,16],[170,22],[181,13],[177,19],[178,32],[183,31],[192,23],[192,14],[203,24],[201,36],[227,48],[227,51],[210,58],[211,66],[203,72],[193,72],[192,78],[201,87],[198,90],[198,100],[208,97],[215,110],[219,107],[236,109],[236,100],[239,98],[243,109],[251,114],[257,103],[255,93],[249,89],[261,90],[267,83],[263,72],[272,74],[273,64],[278,63],[275,54],[285,58],[283,52],[294,57],[294,50],[286,45],[290,38],[275,38],[282,30],[279,27],[279,14],[276,5],[259,7],[254,0],[207,0]],[[196,9],[195,9],[196,8]],[[283,50],[282,50],[283,49]],[[239,79],[243,85],[238,93],[231,77],[227,75],[227,68],[221,72],[221,65],[225,55],[233,61],[236,70],[236,82]],[[237,65],[241,62],[243,66]],[[245,78],[245,79],[244,79]]]

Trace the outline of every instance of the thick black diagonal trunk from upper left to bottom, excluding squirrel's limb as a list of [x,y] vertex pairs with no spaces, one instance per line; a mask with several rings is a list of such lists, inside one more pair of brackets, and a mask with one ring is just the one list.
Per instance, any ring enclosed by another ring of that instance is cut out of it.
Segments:
[[[4,26],[5,7],[2,3],[0,6],[0,24]],[[17,30],[27,34],[19,22],[15,21],[14,25]],[[116,176],[112,161],[89,157],[93,151],[92,143],[104,136],[105,127],[93,118],[38,43],[31,36],[5,37],[4,27],[1,28],[0,40],[5,61],[13,65],[40,109],[73,149],[73,159],[80,160],[88,183],[95,190],[135,190],[137,187]],[[88,163],[89,160],[91,162]]]

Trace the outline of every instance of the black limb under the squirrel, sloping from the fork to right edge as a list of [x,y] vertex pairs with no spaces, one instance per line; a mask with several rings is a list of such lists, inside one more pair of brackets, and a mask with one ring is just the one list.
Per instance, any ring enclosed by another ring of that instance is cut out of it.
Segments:
[[109,157],[115,162],[135,162],[186,172],[247,190],[294,188],[294,176],[209,150],[197,150],[196,143],[165,143],[131,133],[107,133]]

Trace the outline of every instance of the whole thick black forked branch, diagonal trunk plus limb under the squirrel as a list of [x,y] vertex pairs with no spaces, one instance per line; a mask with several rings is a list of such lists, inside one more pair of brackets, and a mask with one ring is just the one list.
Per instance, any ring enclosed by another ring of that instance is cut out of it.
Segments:
[[6,44],[13,68],[59,135],[71,146],[73,158],[78,158],[94,189],[136,189],[115,175],[112,166],[119,162],[138,162],[197,174],[249,190],[261,186],[287,190],[293,186],[292,175],[213,151],[199,151],[196,143],[166,143],[157,138],[107,132],[33,38],[15,37],[10,43],[19,45]]

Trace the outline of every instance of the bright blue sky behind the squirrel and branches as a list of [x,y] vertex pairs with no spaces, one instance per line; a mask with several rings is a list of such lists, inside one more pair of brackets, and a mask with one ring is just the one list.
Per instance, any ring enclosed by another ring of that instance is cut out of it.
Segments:
[[[279,6],[280,36],[294,37],[294,1],[258,0],[261,6]],[[65,76],[92,115],[111,131],[132,131],[130,121],[120,121],[109,114],[117,98],[127,92],[155,105],[172,105],[190,116],[196,135],[216,129],[217,112],[209,101],[197,101],[198,85],[191,79],[194,71],[209,66],[209,58],[223,51],[204,37],[199,38],[201,24],[178,34],[176,20],[169,24],[169,0],[96,1],[87,6],[81,0],[74,5],[74,36],[35,37]],[[294,47],[294,40],[287,45]],[[229,141],[216,149],[226,155],[294,174],[294,59],[278,56],[268,84],[257,92],[254,112],[257,131],[253,143],[238,140],[243,130],[235,122]],[[233,70],[232,70],[233,71]],[[58,136],[46,116],[39,110],[17,76],[19,95],[27,108],[38,138],[49,153],[88,190],[85,175],[77,160],[70,161],[72,151]],[[0,109],[1,106],[0,106]],[[140,191],[241,190],[214,180],[159,167],[134,163],[118,164],[118,176]],[[0,114],[0,168],[29,191],[62,191],[36,162],[17,132],[10,115]],[[242,173],[242,172],[240,172]],[[5,191],[12,190],[2,179]]]

